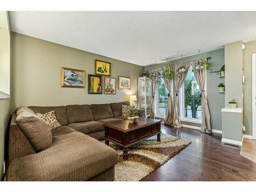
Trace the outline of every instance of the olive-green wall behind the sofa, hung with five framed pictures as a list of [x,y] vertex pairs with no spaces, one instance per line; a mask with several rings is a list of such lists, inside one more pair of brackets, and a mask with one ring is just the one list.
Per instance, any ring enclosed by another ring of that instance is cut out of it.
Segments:
[[[141,66],[26,35],[12,33],[11,37],[11,111],[28,105],[119,102],[138,95]],[[111,77],[131,77],[131,90],[117,90],[116,95],[88,94],[88,74],[95,74],[95,59],[111,62]],[[85,70],[86,88],[61,88],[61,67]]]

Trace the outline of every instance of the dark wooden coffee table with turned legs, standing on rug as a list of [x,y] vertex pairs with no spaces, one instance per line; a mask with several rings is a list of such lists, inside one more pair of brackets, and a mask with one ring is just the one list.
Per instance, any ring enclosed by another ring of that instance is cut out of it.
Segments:
[[161,122],[158,119],[139,117],[138,122],[122,122],[103,124],[105,127],[105,144],[113,142],[123,147],[123,155],[127,156],[128,147],[157,135],[157,141],[161,141]]

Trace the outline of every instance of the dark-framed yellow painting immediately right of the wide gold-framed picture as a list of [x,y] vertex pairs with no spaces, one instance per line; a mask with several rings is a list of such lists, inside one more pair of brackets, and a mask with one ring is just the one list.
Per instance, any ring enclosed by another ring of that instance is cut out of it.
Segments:
[[102,76],[88,75],[88,93],[102,94]]

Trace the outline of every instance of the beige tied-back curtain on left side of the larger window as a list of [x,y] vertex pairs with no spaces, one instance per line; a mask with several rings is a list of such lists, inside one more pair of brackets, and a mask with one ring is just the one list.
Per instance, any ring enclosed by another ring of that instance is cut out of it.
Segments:
[[[185,82],[185,78],[187,76],[187,72],[188,72],[188,69],[190,66],[191,66],[191,62],[180,63],[178,65],[173,66],[176,94],[174,97],[174,110],[173,110],[172,126],[177,127],[177,128],[182,127],[181,121],[180,121],[180,110],[179,110],[179,91]],[[179,73],[178,70],[181,67],[184,67],[184,72]]]

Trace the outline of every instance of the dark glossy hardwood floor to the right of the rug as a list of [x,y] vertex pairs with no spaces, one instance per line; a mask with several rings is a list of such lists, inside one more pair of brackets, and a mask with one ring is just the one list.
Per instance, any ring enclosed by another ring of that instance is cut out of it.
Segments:
[[240,155],[240,148],[221,144],[221,134],[161,125],[164,134],[192,143],[142,181],[256,181],[256,163]]

